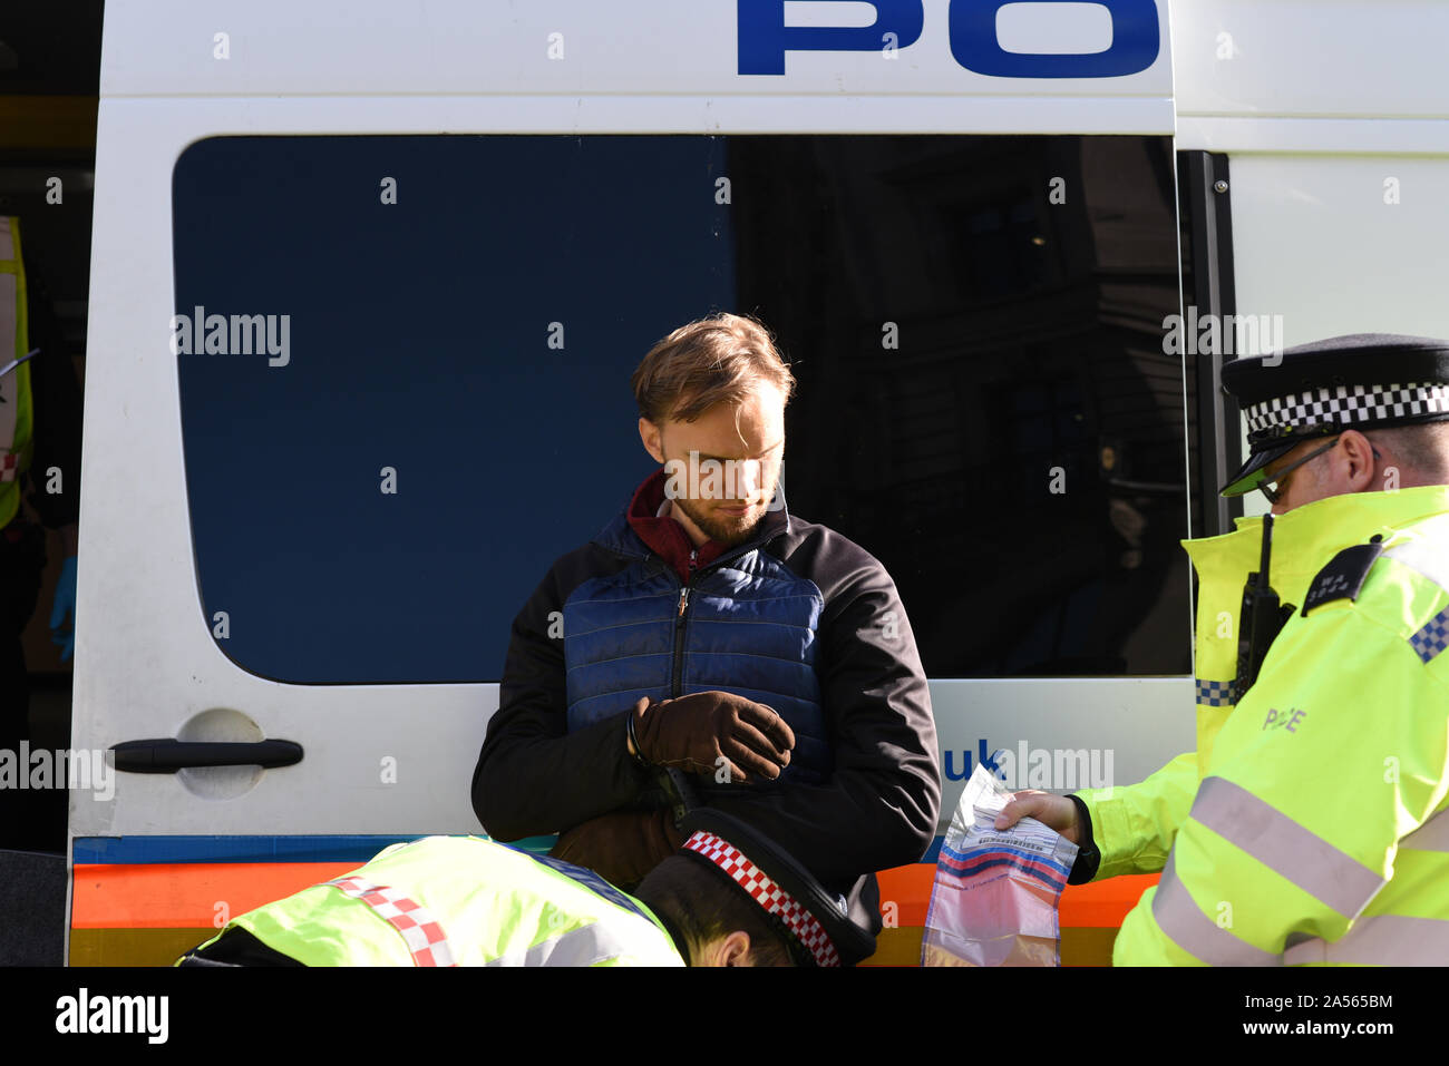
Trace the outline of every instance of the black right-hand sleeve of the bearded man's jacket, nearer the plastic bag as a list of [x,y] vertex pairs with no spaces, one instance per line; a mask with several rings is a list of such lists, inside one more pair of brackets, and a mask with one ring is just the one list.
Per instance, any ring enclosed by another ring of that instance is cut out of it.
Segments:
[[838,533],[791,569],[829,574],[822,588],[820,692],[835,739],[826,785],[716,789],[710,802],[748,818],[827,885],[916,862],[936,833],[940,769],[930,692],[906,608],[885,568]]

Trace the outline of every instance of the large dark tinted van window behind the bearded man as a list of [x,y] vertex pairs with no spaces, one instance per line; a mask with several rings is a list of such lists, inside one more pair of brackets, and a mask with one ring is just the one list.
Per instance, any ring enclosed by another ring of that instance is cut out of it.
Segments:
[[193,145],[199,614],[280,681],[496,681],[652,469],[630,371],[735,310],[801,382],[791,510],[885,562],[932,676],[1185,672],[1171,196],[1161,138]]

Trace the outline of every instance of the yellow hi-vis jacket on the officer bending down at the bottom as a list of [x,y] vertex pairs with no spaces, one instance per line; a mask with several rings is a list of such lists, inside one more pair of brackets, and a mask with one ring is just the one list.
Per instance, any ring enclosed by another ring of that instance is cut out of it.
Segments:
[[684,965],[649,908],[593,870],[480,837],[393,844],[233,926],[307,966]]

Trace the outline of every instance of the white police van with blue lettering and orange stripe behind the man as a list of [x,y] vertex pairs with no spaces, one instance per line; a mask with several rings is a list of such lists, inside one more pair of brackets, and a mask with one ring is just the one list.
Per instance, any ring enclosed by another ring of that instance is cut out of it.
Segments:
[[[1214,316],[1449,333],[1446,35],[1430,0],[113,0],[74,746],[125,769],[72,797],[71,962],[478,831],[510,621],[649,472],[630,369],[717,309],[796,362],[791,510],[901,591],[943,818],[991,749],[1055,789],[1190,749]],[[929,869],[882,878],[881,960]]]

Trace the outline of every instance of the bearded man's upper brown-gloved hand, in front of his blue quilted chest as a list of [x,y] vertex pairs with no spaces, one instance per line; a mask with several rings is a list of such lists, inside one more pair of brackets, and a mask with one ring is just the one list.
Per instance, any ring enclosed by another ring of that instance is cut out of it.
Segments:
[[[639,755],[655,766],[774,781],[790,765],[796,734],[765,704],[732,692],[696,692],[633,710]],[[723,759],[723,762],[720,762]]]

